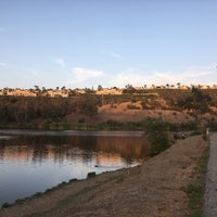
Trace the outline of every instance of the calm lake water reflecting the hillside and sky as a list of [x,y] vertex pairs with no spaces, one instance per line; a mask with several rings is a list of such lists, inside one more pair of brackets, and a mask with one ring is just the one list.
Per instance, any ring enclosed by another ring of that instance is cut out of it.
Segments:
[[142,132],[0,130],[0,206],[63,181],[135,166],[148,154]]

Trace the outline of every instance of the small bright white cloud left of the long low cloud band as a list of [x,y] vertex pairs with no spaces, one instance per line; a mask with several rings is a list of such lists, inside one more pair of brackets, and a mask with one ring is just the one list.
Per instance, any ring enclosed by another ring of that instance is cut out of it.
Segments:
[[69,81],[71,84],[85,82],[91,78],[99,78],[104,75],[102,71],[87,69],[82,67],[74,67],[72,72],[73,72],[73,78],[71,78]]

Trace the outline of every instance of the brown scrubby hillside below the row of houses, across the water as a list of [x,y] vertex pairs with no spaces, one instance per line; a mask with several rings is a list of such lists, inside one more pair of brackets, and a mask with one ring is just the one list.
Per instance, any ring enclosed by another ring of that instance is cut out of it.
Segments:
[[[111,129],[141,125],[146,117],[175,124],[217,126],[217,90],[155,89],[120,95],[78,94],[71,98],[0,97],[0,126]],[[60,127],[61,126],[61,127]],[[88,126],[88,127],[87,127]],[[141,128],[141,126],[139,127]]]

